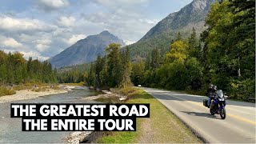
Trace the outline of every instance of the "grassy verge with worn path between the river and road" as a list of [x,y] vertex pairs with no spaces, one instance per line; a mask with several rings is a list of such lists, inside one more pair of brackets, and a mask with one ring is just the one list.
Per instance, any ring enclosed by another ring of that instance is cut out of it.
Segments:
[[[126,92],[126,103],[150,103],[150,118],[137,118],[136,132],[105,132],[99,143],[202,143],[192,131],[170,113],[158,100],[143,90],[121,90]],[[149,129],[150,127],[150,129]]]

